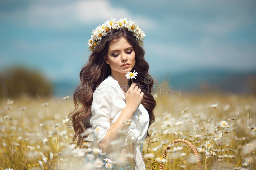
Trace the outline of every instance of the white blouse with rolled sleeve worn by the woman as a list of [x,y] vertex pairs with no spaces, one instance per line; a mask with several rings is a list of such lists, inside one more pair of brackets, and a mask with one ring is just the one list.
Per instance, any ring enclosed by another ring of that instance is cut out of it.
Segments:
[[[102,81],[98,88],[93,92],[93,100],[90,119],[92,132],[88,135],[88,140],[97,144],[106,136],[110,126],[116,122],[117,118],[126,106],[125,95],[111,75]],[[140,109],[140,118],[139,118]],[[120,148],[134,143],[135,169],[146,169],[141,152],[140,144],[147,136],[149,125],[149,115],[145,107],[140,103],[139,108],[134,112],[131,125],[128,125],[127,131],[120,138],[119,143],[111,145],[111,149]],[[111,135],[110,135],[111,137]]]

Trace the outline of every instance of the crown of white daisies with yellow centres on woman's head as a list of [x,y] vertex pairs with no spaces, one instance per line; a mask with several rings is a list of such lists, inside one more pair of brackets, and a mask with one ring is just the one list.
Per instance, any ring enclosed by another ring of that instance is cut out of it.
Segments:
[[141,47],[143,47],[143,39],[146,36],[145,32],[137,25],[136,22],[127,21],[127,18],[120,18],[116,21],[115,18],[110,18],[110,20],[98,26],[95,30],[92,30],[91,39],[88,40],[87,46],[89,47],[88,51],[92,51],[99,43],[102,37],[106,36],[112,30],[119,30],[126,28],[132,35],[136,37],[137,42]]

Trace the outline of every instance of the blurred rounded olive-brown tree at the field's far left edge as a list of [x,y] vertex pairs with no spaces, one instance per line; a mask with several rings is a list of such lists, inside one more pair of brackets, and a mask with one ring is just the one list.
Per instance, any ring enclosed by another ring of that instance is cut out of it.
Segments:
[[0,74],[0,97],[50,96],[52,83],[38,70],[25,67],[12,67]]

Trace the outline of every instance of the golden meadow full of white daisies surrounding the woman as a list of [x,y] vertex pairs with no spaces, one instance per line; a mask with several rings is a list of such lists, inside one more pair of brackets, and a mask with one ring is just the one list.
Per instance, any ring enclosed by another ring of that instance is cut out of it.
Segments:
[[[64,97],[64,96],[63,96]],[[154,95],[156,121],[143,142],[146,169],[256,169],[256,97],[253,95]],[[84,142],[70,144],[72,97],[1,100],[0,169],[114,169],[108,154]],[[142,113],[143,114],[143,113]],[[83,135],[91,129],[86,129]],[[167,146],[166,158],[162,154]],[[103,159],[107,157],[108,159]],[[127,157],[133,155],[126,155]]]

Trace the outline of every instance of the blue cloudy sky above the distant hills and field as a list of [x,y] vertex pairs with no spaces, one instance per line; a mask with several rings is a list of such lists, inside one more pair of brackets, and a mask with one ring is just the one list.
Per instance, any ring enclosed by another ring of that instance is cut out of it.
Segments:
[[0,1],[0,67],[38,68],[51,80],[78,80],[99,24],[131,18],[146,33],[149,73],[256,68],[256,2]]

